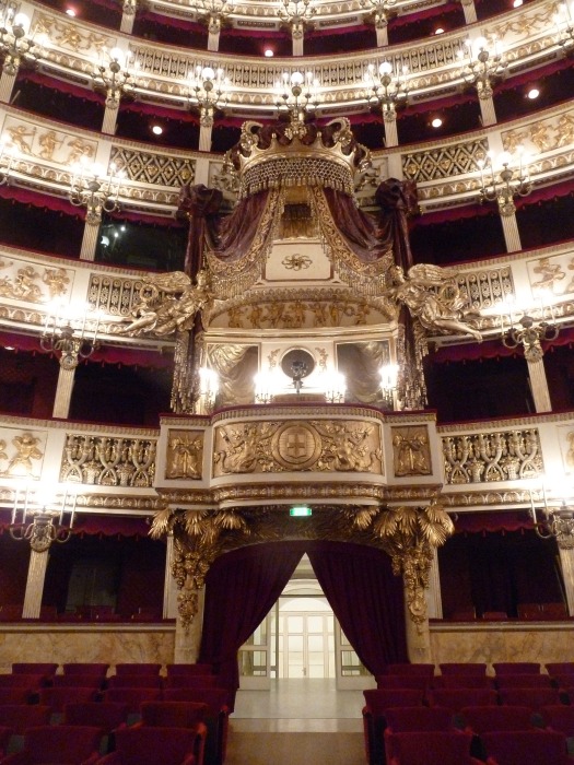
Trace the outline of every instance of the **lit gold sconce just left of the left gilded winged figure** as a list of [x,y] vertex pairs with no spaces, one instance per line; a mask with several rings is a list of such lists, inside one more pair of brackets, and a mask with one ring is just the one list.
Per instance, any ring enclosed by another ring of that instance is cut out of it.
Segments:
[[[89,319],[87,313],[84,311],[83,317],[75,321],[65,316],[60,317],[58,313],[51,316],[47,314],[39,339],[40,349],[45,353],[58,355],[62,369],[75,369],[81,361],[89,358],[99,348],[97,342],[99,320],[99,313],[94,313],[94,316]],[[92,330],[90,330],[90,323],[93,325]]]

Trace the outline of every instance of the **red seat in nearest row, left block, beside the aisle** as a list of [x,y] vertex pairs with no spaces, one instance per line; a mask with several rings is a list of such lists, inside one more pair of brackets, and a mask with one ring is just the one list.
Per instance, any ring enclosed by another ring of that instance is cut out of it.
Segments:
[[202,765],[197,743],[192,728],[124,728],[116,733],[116,751],[98,765]]

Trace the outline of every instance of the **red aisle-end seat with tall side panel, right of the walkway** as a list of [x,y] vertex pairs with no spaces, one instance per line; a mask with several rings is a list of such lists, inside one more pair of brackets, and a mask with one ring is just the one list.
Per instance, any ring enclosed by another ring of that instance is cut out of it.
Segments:
[[422,707],[424,692],[415,688],[370,688],[363,691],[363,734],[365,752],[371,765],[383,762],[383,733],[386,728],[385,713],[391,707]]

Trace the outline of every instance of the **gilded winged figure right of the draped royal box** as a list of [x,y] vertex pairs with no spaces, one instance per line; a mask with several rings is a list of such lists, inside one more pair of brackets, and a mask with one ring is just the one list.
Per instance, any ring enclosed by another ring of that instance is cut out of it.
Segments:
[[405,304],[424,329],[471,334],[482,341],[481,333],[469,323],[469,318],[473,320],[478,315],[468,307],[468,299],[453,281],[452,271],[419,263],[412,266],[407,275],[400,266],[394,266],[390,274],[394,281],[390,297]]

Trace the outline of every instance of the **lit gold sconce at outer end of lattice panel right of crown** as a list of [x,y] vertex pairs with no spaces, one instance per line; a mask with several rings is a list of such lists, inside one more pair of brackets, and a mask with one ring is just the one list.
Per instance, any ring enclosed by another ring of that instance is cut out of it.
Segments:
[[[532,190],[528,167],[525,167],[524,150],[522,146],[517,150],[518,168],[511,167],[512,156],[507,152],[503,152],[497,158],[493,158],[489,152],[485,160],[480,160],[478,166],[480,169],[480,196],[481,201],[499,203],[501,215],[514,215],[516,205],[515,197],[527,197]],[[497,172],[494,170],[496,165]]]

